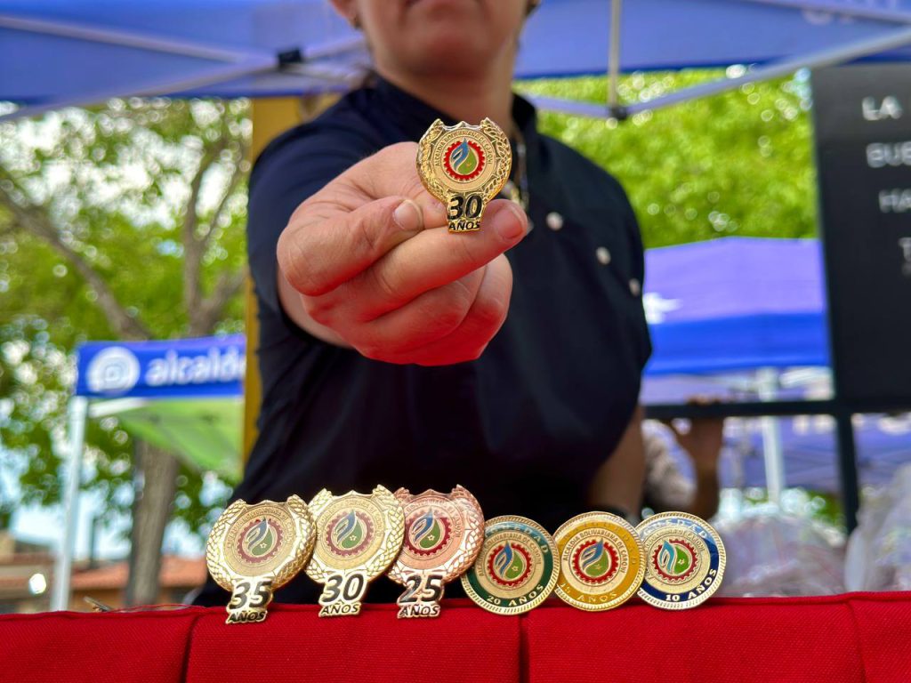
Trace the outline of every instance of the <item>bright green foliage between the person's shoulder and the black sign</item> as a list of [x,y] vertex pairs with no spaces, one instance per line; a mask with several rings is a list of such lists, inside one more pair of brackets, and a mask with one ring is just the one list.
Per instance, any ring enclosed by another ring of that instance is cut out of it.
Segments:
[[[633,74],[621,102],[648,102],[723,72]],[[520,84],[532,95],[604,103],[605,78]],[[743,235],[812,237],[815,174],[807,76],[747,84],[626,121],[544,112],[545,132],[608,168],[647,247]]]

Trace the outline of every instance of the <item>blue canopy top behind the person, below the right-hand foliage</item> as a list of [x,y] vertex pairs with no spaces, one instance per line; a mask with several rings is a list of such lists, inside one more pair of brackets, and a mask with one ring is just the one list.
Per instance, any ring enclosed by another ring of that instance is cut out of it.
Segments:
[[818,241],[711,240],[649,250],[646,267],[648,374],[829,364]]

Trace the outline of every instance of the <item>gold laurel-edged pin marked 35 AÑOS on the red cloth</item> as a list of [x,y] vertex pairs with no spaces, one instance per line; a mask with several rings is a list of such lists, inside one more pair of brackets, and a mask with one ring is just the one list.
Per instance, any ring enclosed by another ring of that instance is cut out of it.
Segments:
[[284,503],[229,505],[206,543],[209,573],[231,592],[226,623],[263,621],[272,592],[301,571],[313,540],[312,516],[296,495]]

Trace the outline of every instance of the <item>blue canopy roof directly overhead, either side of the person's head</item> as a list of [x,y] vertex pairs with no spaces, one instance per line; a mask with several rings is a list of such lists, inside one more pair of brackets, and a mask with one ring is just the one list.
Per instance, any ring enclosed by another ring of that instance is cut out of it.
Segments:
[[[907,59],[909,43],[911,0],[544,0],[517,77],[761,65],[635,111],[801,66]],[[368,61],[327,0],[0,0],[0,99],[25,105],[8,116],[115,96],[300,95],[343,87]],[[605,116],[615,87],[606,99],[542,104]]]

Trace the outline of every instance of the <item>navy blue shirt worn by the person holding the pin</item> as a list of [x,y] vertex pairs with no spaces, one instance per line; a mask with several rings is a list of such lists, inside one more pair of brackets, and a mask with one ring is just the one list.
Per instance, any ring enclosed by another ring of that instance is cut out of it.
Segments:
[[[263,403],[235,497],[463,484],[486,517],[526,515],[550,531],[589,509],[592,475],[630,420],[650,354],[640,233],[614,178],[538,134],[520,97],[513,115],[534,229],[507,252],[514,284],[502,329],[480,359],[445,367],[371,361],[302,331],[281,310],[275,249],[292,211],[343,170],[418,140],[436,117],[455,122],[381,80],[262,152],[248,240]],[[301,576],[277,597],[312,599],[315,587]]]

